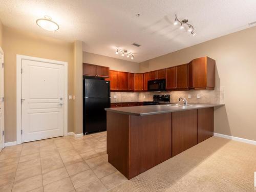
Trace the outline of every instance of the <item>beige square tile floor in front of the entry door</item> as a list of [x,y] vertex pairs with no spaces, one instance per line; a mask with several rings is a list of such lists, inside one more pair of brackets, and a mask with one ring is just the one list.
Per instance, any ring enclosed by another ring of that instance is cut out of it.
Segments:
[[23,143],[0,153],[1,192],[103,192],[125,181],[108,163],[106,132]]

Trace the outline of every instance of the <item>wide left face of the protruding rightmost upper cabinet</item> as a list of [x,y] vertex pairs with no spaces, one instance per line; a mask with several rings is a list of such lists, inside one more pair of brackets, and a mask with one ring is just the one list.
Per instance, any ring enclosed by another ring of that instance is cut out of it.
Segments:
[[206,59],[205,57],[193,60],[193,87],[206,87]]

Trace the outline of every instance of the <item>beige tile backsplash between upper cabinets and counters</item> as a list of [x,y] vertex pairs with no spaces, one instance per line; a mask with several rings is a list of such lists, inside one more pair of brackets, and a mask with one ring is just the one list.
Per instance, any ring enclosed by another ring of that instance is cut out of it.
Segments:
[[[224,103],[224,87],[215,90],[162,91],[162,92],[111,92],[111,102],[152,101],[153,95],[169,94],[171,102],[178,102],[180,97],[189,103]],[[188,98],[188,94],[191,98]],[[197,98],[197,95],[200,98]],[[114,98],[116,96],[116,98]]]

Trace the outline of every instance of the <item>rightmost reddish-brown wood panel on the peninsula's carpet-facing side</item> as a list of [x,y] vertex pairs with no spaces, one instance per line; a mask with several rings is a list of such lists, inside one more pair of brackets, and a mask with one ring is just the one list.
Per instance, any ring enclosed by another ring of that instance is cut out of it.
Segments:
[[197,142],[214,136],[214,108],[197,110]]

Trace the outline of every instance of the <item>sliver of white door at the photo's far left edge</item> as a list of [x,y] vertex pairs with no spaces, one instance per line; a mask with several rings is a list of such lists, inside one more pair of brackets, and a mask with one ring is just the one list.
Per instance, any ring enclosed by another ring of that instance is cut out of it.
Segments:
[[[1,48],[0,48],[1,49]],[[4,123],[4,55],[0,50],[0,152],[4,147],[4,130],[5,130],[5,123]]]

